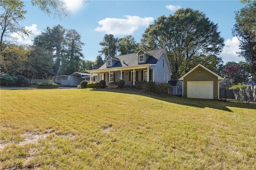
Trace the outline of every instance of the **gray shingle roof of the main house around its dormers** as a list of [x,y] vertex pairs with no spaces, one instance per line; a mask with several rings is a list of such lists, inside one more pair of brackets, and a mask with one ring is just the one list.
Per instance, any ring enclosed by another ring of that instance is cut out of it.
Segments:
[[[165,50],[164,48],[161,48],[161,49],[146,51],[152,56],[150,56],[146,61],[146,63],[144,64],[156,64],[158,59],[161,57],[162,53],[164,52],[164,50]],[[115,56],[115,58],[119,59],[119,61],[117,61],[111,68],[141,65],[141,64],[138,64],[138,55],[136,55],[136,53],[118,55],[118,56]],[[99,69],[106,69],[106,68],[107,68],[107,64],[104,63]]]

